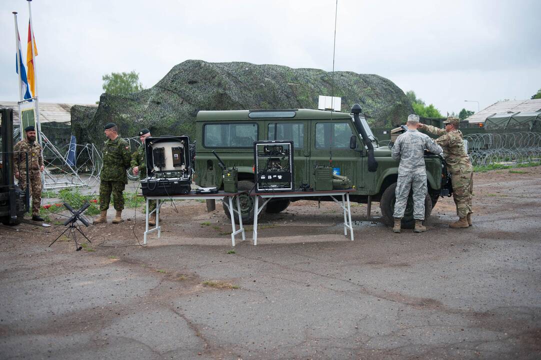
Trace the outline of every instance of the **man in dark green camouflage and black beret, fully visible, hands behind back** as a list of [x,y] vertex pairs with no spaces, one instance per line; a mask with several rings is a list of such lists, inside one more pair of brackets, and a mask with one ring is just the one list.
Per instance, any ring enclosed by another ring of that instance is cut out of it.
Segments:
[[130,146],[128,142],[118,135],[118,128],[115,123],[109,122],[104,126],[107,140],[103,144],[102,158],[103,166],[100,173],[100,210],[101,214],[94,224],[107,222],[107,209],[113,202],[116,210],[114,224],[122,222],[122,210],[124,210],[124,187],[128,184],[126,170],[130,167]]

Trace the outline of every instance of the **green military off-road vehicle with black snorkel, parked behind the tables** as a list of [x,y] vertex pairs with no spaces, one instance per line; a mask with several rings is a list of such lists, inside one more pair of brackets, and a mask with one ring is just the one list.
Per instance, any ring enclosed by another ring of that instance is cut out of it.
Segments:
[[[223,188],[222,170],[212,150],[227,167],[238,169],[239,191],[254,188],[254,152],[256,140],[293,140],[295,188],[314,184],[314,167],[329,163],[335,173],[347,176],[355,188],[351,201],[371,204],[379,201],[382,220],[393,223],[394,190],[398,178],[398,162],[391,158],[388,145],[379,146],[378,139],[361,114],[358,104],[352,114],[311,109],[200,111],[196,117],[195,182],[201,187]],[[425,155],[428,195],[425,218],[447,184],[443,159]],[[253,221],[254,201],[247,193],[239,195],[242,221]],[[303,198],[280,198],[267,203],[267,213],[279,213],[291,201]],[[307,197],[306,200],[318,200]],[[330,200],[330,199],[319,199]],[[229,211],[225,208],[229,216]],[[413,201],[408,200],[403,226],[412,226]]]

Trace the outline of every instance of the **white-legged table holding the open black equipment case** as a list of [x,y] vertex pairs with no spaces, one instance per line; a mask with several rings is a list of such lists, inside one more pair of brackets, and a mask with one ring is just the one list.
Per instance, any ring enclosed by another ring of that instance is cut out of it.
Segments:
[[[223,191],[220,191],[215,194],[195,194],[195,193],[189,193],[186,195],[173,195],[173,196],[154,196],[154,197],[146,197],[147,199],[147,209],[146,209],[146,217],[145,217],[145,231],[144,231],[144,237],[143,237],[143,244],[147,244],[147,234],[157,231],[158,232],[158,238],[160,238],[161,235],[161,229],[160,226],[160,207],[162,205],[162,200],[207,200],[207,199],[214,199],[214,200],[222,200],[224,197],[228,198],[229,204],[225,202],[224,204],[229,209],[229,215],[231,217],[231,227],[233,232],[231,233],[231,244],[232,246],[235,246],[235,235],[238,233],[242,233],[242,240],[245,240],[245,232],[244,227],[242,226],[242,216],[240,212],[240,202],[239,197],[236,197],[236,213],[239,217],[239,230],[236,230],[235,228],[235,215],[233,211],[233,197],[235,195],[239,195],[240,192],[237,193],[226,193]],[[149,202],[150,200],[156,200],[156,208],[155,210],[149,212]],[[149,230],[148,226],[148,218],[149,215],[156,212],[156,225]]]

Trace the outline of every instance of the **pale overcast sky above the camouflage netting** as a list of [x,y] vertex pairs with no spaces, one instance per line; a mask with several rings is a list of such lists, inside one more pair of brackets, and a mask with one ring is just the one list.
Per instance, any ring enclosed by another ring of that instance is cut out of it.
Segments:
[[[148,88],[188,59],[332,70],[335,0],[34,0],[42,102],[94,103],[102,75],[135,70]],[[17,101],[17,11],[0,1],[0,101]],[[338,1],[335,70],[384,76],[442,114],[541,88],[541,1]],[[314,94],[320,95],[320,94]]]

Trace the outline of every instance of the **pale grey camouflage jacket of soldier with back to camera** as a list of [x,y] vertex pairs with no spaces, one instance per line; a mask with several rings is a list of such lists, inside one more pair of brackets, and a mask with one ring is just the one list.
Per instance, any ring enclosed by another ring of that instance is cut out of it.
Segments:
[[441,147],[430,136],[417,130],[407,130],[398,136],[391,150],[394,160],[400,160],[398,174],[426,174],[425,149],[434,154],[441,153]]

